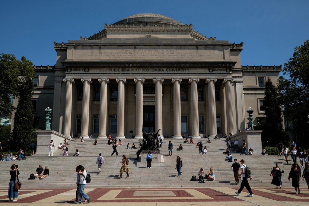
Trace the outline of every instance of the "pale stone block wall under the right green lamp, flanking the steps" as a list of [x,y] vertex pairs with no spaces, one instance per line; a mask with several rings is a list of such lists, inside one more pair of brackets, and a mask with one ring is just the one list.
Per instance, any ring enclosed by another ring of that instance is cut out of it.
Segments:
[[261,132],[263,130],[245,130],[243,132],[237,133],[230,137],[230,140],[234,143],[235,140],[238,140],[238,147],[243,147],[243,140],[247,143],[247,152],[249,148],[252,147],[254,154],[259,154],[262,152],[262,139]]

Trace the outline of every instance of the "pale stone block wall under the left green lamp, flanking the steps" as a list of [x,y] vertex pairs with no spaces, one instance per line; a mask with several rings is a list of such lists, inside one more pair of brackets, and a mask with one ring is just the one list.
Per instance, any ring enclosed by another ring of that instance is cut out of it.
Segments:
[[53,153],[54,153],[58,150],[58,146],[60,145],[60,143],[63,144],[64,140],[72,139],[54,130],[36,130],[36,133],[38,134],[36,141],[36,154],[40,155],[49,154],[48,146],[51,140],[53,140],[53,143],[55,144],[55,146],[53,147]]

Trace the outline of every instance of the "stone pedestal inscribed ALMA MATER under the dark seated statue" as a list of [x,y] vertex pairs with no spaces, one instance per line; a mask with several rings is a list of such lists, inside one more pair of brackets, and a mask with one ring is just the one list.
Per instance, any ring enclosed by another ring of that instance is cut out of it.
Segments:
[[163,155],[160,154],[160,150],[142,150],[140,159],[136,163],[137,167],[147,167],[146,157],[148,151],[152,154],[151,167],[162,167],[165,166]]

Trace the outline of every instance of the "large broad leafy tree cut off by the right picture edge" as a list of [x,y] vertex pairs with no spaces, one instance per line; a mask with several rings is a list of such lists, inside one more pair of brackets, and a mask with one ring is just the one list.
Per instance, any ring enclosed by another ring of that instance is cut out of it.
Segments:
[[284,115],[292,120],[298,142],[308,147],[309,40],[295,48],[293,57],[284,64],[283,72],[290,75],[290,79],[280,77],[278,80]]

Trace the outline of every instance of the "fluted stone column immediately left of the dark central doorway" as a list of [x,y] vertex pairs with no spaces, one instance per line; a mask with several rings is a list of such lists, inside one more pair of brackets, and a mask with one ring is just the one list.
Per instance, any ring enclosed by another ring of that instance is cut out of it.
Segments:
[[134,78],[136,83],[136,115],[135,115],[135,138],[143,138],[142,124],[143,124],[143,82],[144,78]]

